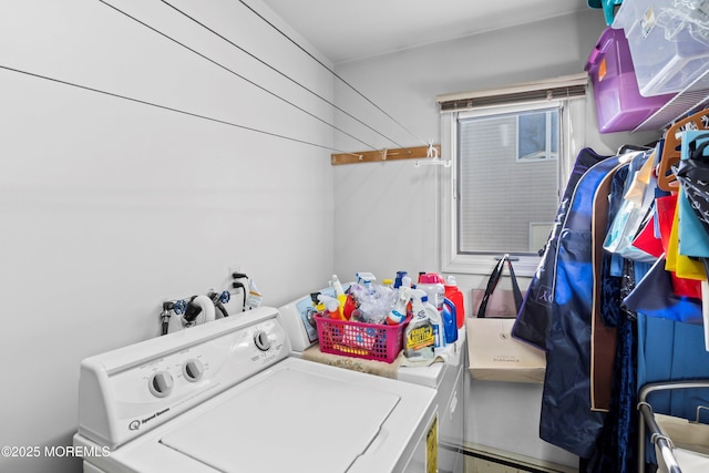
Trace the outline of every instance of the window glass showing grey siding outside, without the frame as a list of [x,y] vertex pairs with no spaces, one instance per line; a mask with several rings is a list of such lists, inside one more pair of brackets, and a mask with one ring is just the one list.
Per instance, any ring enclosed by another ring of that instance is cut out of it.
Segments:
[[558,208],[558,105],[459,114],[458,253],[540,250],[530,224],[551,229]]

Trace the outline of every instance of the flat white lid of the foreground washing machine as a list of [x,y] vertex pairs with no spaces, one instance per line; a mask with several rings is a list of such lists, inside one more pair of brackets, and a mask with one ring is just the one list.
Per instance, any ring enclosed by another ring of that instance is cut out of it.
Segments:
[[277,370],[161,442],[222,472],[346,471],[398,402],[366,384]]

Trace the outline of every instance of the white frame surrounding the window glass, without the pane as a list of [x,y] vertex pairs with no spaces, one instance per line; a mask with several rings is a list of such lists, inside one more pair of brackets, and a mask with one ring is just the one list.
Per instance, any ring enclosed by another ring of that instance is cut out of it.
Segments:
[[[580,97],[585,102],[584,97]],[[567,100],[553,99],[541,101],[528,101],[510,103],[505,105],[476,107],[466,111],[452,111],[441,113],[441,146],[442,155],[448,157],[452,165],[450,173],[439,175],[440,186],[440,241],[441,241],[441,268],[444,273],[487,275],[496,260],[502,256],[501,253],[476,251],[467,254],[458,253],[458,120],[460,116],[484,116],[499,113],[518,113],[523,111],[559,107],[559,156],[556,158],[558,166],[558,192],[563,192],[563,185],[567,181],[564,174],[573,165],[573,160],[580,150],[580,146],[574,143],[578,140],[572,140],[567,134],[576,128],[583,130],[585,126],[585,111],[582,109],[574,116],[574,126],[571,126],[571,113],[567,113]],[[583,136],[578,136],[582,137]],[[583,140],[582,140],[583,142]],[[578,148],[578,150],[577,150]],[[553,218],[553,217],[552,217]],[[551,230],[551,228],[549,228]],[[541,255],[533,253],[510,253],[514,260],[515,274],[522,277],[531,277],[536,271],[541,260]]]

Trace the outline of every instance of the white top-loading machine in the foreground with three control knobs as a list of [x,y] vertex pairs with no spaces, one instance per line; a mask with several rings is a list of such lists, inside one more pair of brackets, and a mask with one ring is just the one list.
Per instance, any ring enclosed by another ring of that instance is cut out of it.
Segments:
[[431,388],[291,356],[259,308],[82,361],[84,472],[434,472]]

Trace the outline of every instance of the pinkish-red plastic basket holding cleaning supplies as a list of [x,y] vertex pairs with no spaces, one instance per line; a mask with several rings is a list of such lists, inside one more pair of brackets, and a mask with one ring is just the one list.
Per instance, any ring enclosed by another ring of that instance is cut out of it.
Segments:
[[343,354],[391,363],[403,342],[409,319],[397,326],[315,317],[323,353]]

